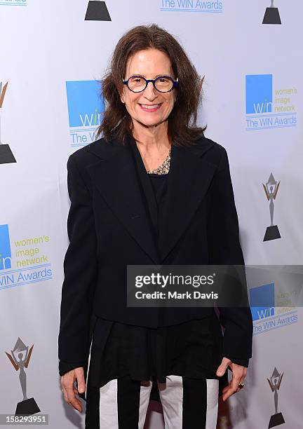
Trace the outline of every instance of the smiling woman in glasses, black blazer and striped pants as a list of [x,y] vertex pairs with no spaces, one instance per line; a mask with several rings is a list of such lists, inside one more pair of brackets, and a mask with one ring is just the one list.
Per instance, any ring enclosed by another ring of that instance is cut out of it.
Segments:
[[201,81],[157,25],[119,40],[102,93],[103,137],[67,163],[62,391],[79,411],[85,393],[86,428],[143,428],[153,388],[166,428],[214,429],[219,393],[243,387],[250,308],[220,308],[222,336],[211,307],[128,307],[126,268],[244,264],[227,153],[196,127]]

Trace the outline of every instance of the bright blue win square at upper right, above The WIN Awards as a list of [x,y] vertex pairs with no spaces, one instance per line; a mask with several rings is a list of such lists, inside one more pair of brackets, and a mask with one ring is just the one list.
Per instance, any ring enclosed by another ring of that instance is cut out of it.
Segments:
[[246,75],[246,114],[271,113],[273,101],[272,81],[272,74]]

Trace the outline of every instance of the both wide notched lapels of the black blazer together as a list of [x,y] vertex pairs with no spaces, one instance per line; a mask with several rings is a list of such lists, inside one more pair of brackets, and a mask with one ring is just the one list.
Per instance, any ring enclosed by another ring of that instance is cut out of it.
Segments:
[[[159,222],[160,254],[142,200],[131,144],[135,144],[133,138],[128,139],[126,145],[116,139],[110,143],[97,141],[88,145],[87,150],[100,158],[97,163],[88,166],[88,172],[116,217],[144,252],[159,265],[184,233],[210,185],[215,165],[203,161],[203,155],[212,144],[203,140],[202,144],[188,148],[172,146],[166,202]],[[142,159],[141,163],[144,168]],[[141,179],[143,176],[141,172]],[[147,172],[143,177],[145,179],[144,189],[151,192]],[[149,210],[156,210],[155,200],[152,200]]]

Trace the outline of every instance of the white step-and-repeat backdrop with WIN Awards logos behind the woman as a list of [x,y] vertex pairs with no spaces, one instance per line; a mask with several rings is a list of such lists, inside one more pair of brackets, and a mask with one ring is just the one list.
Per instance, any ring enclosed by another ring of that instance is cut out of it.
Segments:
[[[299,0],[0,0],[0,414],[83,428],[58,375],[66,164],[95,139],[100,81],[135,25],[168,30],[204,76],[198,124],[229,154],[246,264],[302,264],[302,16]],[[281,306],[281,278],[250,290],[269,302],[253,308],[253,360],[220,429],[302,427],[303,315]],[[152,402],[145,428],[163,428]]]

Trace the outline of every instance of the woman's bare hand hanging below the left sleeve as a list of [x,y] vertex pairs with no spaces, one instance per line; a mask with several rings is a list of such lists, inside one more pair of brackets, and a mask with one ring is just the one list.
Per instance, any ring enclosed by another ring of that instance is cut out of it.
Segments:
[[[74,385],[74,381],[78,383],[78,389]],[[76,397],[79,393],[84,393],[86,389],[86,383],[84,379],[84,369],[79,367],[72,369],[71,371],[65,373],[61,377],[61,386],[62,392],[65,397],[65,402],[69,404],[74,409],[78,410],[79,413],[82,412],[82,404],[80,400]]]

